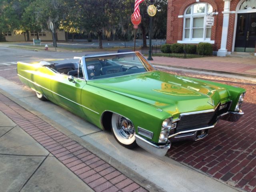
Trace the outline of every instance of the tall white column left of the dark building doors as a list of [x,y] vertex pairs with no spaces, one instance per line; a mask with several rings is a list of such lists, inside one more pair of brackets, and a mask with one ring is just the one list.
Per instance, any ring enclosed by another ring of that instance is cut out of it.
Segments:
[[229,14],[230,14],[230,1],[232,0],[223,0],[224,1],[224,12],[223,13],[223,25],[222,25],[222,36],[220,49],[218,50],[217,56],[225,57],[228,54],[227,50],[227,40],[228,40],[228,23],[229,23]]

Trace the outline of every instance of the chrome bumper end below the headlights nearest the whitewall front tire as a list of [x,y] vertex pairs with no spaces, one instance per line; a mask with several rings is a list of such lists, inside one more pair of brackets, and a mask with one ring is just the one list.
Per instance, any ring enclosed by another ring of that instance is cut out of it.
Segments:
[[140,146],[144,150],[146,150],[152,154],[155,154],[157,156],[160,156],[160,157],[165,156],[166,152],[171,147],[171,142],[169,140],[166,144],[160,145],[160,146],[144,139],[141,136],[138,136],[137,134],[135,134],[135,140],[136,140],[136,143],[138,144],[138,146]]

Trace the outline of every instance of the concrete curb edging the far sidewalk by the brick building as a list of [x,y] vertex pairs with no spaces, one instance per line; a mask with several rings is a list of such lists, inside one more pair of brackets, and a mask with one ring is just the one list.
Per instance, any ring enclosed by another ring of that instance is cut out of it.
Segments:
[[159,63],[152,63],[153,65],[158,66],[165,66],[165,67],[172,67],[177,69],[188,69],[188,70],[194,70],[194,71],[204,71],[204,72],[212,72],[212,73],[218,73],[218,74],[230,74],[230,75],[239,75],[244,77],[250,77],[250,78],[256,78],[256,75],[250,75],[250,74],[242,74],[242,73],[234,73],[234,72],[226,72],[226,71],[216,71],[216,70],[207,70],[207,69],[198,69],[198,68],[191,68],[191,67],[182,67],[182,66],[172,66],[172,65],[164,65]]

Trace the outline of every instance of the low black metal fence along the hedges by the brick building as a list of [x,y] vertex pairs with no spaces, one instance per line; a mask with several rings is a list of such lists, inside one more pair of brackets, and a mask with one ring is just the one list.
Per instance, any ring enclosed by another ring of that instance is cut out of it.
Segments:
[[[186,44],[185,44],[186,45]],[[167,57],[177,57],[177,58],[196,58],[196,57],[204,57],[204,54],[198,54],[197,52],[194,54],[188,54],[185,51],[183,53],[163,53],[161,51],[162,45],[152,45],[152,55],[154,56],[167,56]],[[142,54],[148,54],[149,47],[141,48],[140,52]],[[204,52],[204,51],[203,51]],[[212,45],[212,56],[217,56],[217,46]],[[209,55],[207,55],[209,56]]]

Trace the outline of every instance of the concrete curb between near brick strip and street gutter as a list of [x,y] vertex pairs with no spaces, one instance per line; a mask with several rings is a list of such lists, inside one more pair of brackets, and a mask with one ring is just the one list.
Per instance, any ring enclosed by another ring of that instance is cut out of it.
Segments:
[[10,94],[8,94],[4,90],[2,90],[1,88],[0,88],[0,93],[3,94],[4,96],[8,97],[10,100],[15,102],[16,104],[25,108],[26,110],[28,110],[32,114],[40,117],[42,120],[44,120],[48,124],[51,124],[54,128],[56,128],[57,130],[59,130],[63,134],[66,134],[66,136],[68,136],[70,139],[78,142],[78,144],[87,148],[92,153],[94,153],[98,157],[102,158],[102,160],[108,162],[108,164],[110,164],[111,166],[116,168],[118,171],[120,171],[122,174],[124,174],[125,176],[127,176],[128,178],[130,178],[131,180],[133,180],[134,182],[136,182],[140,186],[144,187],[146,190],[152,191],[152,192],[164,192],[164,190],[162,188],[160,188],[159,186],[156,186],[154,183],[148,181],[146,178],[140,176],[139,174],[137,174],[136,172],[134,172],[133,170],[131,170],[130,168],[128,168],[127,166],[122,164],[121,162],[112,158],[111,156],[109,156],[108,154],[103,152],[102,150],[99,150],[98,148],[94,147],[92,144],[90,144],[89,142],[86,142],[85,140],[83,140],[79,136],[76,136],[75,134],[73,134],[72,132],[70,132],[69,130],[67,130],[66,128],[61,126],[60,124],[58,124],[58,123],[54,122],[53,120],[49,119],[48,117],[44,116],[42,113],[34,110],[32,107],[28,106],[24,102],[18,100],[17,98],[14,98]]

